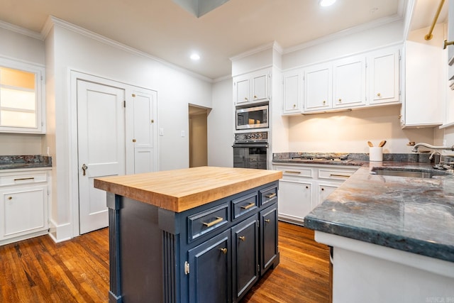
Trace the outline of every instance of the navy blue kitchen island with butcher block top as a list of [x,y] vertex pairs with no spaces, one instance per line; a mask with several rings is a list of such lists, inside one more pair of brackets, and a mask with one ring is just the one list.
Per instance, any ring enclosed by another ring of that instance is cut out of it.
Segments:
[[109,302],[237,302],[279,264],[282,172],[194,167],[103,177]]

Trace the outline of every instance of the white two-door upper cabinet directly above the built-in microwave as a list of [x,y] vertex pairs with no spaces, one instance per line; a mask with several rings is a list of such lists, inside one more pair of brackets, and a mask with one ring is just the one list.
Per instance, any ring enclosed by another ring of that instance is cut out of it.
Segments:
[[270,70],[260,70],[233,78],[233,98],[236,105],[269,101]]

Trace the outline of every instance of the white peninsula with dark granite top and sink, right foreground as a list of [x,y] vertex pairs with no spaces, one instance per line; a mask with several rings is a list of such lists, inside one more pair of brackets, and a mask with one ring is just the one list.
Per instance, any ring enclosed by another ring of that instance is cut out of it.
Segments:
[[[397,176],[402,170],[435,175]],[[333,247],[333,302],[454,302],[452,172],[370,162],[304,225]]]

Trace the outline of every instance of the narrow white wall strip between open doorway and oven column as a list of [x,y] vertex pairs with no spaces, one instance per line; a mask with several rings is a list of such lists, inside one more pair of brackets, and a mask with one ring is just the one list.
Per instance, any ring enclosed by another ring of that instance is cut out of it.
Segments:
[[208,114],[208,165],[233,167],[233,83],[213,84],[212,109]]

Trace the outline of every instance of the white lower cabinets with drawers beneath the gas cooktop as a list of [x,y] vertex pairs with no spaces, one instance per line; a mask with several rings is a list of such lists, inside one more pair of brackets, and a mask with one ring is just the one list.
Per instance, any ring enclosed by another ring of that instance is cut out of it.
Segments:
[[304,224],[304,217],[358,170],[356,166],[275,163],[279,180],[279,220]]

